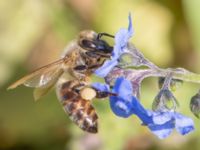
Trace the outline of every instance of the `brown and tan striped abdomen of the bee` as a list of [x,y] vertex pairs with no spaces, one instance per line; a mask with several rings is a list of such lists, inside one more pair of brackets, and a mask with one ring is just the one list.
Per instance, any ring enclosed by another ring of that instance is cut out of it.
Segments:
[[73,81],[65,82],[59,89],[60,102],[70,119],[77,124],[82,130],[97,133],[98,116],[91,101],[83,99],[73,88],[77,86]]

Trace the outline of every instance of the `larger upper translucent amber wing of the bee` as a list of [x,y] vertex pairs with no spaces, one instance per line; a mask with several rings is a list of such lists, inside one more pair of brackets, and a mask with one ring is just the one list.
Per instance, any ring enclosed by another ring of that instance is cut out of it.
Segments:
[[57,80],[58,77],[60,77],[64,72],[62,67],[64,64],[64,60],[65,58],[37,69],[31,74],[19,79],[18,81],[10,85],[8,89],[16,88],[21,84],[24,84],[27,87],[35,88],[45,88],[45,86],[48,87],[53,80]]

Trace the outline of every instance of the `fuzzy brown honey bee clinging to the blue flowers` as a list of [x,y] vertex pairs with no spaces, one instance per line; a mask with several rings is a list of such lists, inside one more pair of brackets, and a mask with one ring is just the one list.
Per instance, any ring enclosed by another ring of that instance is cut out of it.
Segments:
[[[114,38],[110,34],[97,34],[92,30],[80,32],[77,40],[66,47],[61,59],[33,71],[8,89],[21,84],[34,87],[34,98],[37,100],[55,85],[57,97],[70,119],[82,130],[97,133],[98,116],[91,99],[103,98],[110,93],[90,87],[89,77],[110,58],[113,51],[113,47],[102,40],[102,36]],[[84,94],[85,91],[89,91],[88,95]]]

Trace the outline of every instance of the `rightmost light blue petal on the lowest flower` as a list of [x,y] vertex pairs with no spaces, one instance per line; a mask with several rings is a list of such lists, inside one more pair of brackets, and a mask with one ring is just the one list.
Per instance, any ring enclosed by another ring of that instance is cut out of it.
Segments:
[[194,122],[191,118],[183,116],[180,113],[174,115],[176,121],[176,130],[182,134],[188,134],[194,130]]

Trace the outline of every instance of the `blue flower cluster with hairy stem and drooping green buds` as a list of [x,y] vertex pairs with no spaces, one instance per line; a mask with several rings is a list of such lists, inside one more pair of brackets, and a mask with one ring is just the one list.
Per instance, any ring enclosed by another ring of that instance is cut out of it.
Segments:
[[[103,77],[106,83],[94,83],[92,86],[99,91],[116,94],[109,97],[110,107],[115,115],[123,118],[136,115],[142,125],[161,139],[168,137],[173,129],[182,135],[190,133],[194,130],[193,120],[176,112],[178,101],[171,92],[171,85],[175,85],[176,80],[194,82],[194,78],[197,80],[199,76],[183,68],[157,67],[129,42],[133,33],[129,15],[128,29],[120,29],[115,35],[111,60],[107,60],[95,72],[97,76]],[[129,56],[131,61],[123,62],[124,55]],[[136,69],[128,69],[127,66],[134,66]],[[147,69],[137,68],[138,66],[146,66]],[[151,76],[160,77],[162,80],[159,80],[160,91],[153,101],[152,110],[149,110],[143,107],[139,97],[141,81]],[[195,115],[200,113],[199,95],[194,96],[190,103],[191,111]],[[172,106],[169,106],[169,103],[172,103]]]

